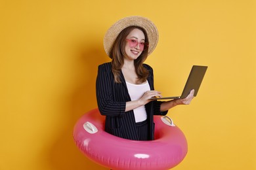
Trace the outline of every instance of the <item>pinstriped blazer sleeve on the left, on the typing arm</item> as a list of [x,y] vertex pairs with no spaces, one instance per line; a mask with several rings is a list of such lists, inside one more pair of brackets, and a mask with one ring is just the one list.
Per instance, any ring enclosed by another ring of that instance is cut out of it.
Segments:
[[114,101],[114,76],[111,65],[98,66],[96,78],[96,99],[100,114],[105,116],[121,116],[125,114],[126,102]]

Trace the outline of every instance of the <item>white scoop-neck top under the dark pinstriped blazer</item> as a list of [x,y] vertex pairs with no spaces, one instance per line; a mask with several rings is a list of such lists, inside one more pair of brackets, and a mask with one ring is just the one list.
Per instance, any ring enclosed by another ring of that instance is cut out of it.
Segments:
[[[126,82],[129,95],[131,97],[131,101],[135,101],[137,99],[140,99],[142,95],[150,90],[150,86],[148,84],[148,81],[146,81],[143,84],[131,84],[129,82]],[[133,109],[134,116],[135,116],[135,122],[142,122],[146,120],[146,109],[145,106],[142,105],[140,107],[137,107],[136,109]]]

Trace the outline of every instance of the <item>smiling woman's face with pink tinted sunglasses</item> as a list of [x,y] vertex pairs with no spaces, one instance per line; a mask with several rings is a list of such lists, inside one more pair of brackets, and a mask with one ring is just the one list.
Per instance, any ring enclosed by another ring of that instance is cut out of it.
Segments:
[[127,59],[137,59],[146,48],[145,35],[140,29],[133,29],[126,37],[125,53]]

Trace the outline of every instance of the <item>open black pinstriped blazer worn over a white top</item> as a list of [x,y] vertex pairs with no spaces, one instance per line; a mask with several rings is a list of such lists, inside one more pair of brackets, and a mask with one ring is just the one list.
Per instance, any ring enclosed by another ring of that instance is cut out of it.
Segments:
[[[143,66],[150,72],[147,80],[150,90],[154,90],[153,69],[146,64],[143,64]],[[98,66],[98,76],[96,78],[98,109],[100,114],[106,116],[106,132],[125,139],[139,140],[133,110],[125,112],[126,102],[131,101],[131,98],[122,73],[120,80],[121,83],[114,82],[111,63],[104,63]],[[160,112],[161,103],[162,101],[151,101],[145,105],[150,140],[154,139],[153,115],[167,114],[167,111]]]

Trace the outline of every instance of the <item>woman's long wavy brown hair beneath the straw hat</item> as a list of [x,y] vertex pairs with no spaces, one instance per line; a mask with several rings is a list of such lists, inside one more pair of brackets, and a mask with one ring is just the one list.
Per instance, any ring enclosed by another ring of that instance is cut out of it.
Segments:
[[[114,74],[114,80],[117,83],[121,83],[120,75],[121,75],[121,67],[123,67],[123,58],[127,55],[125,53],[125,44],[126,37],[129,35],[133,29],[140,29],[145,35],[145,42],[148,43],[148,35],[146,31],[142,27],[138,26],[130,26],[126,27],[119,33],[112,46],[112,50],[110,51],[110,58],[112,58],[112,72]],[[135,71],[139,78],[139,82],[145,82],[146,78],[148,78],[148,70],[143,67],[143,63],[148,57],[148,48],[142,51],[139,58],[135,59]]]

